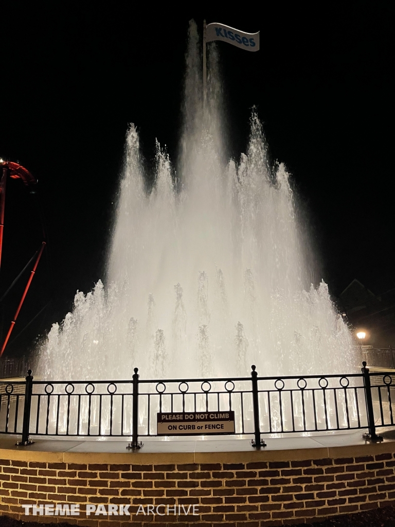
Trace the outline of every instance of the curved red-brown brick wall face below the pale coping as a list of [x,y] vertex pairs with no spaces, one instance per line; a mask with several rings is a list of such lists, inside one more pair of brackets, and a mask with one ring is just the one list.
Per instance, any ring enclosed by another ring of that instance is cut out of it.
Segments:
[[[28,451],[24,454],[27,457]],[[43,458],[45,453],[41,454]],[[233,455],[237,459],[238,453]],[[395,454],[291,462],[191,464],[0,460],[0,514],[27,520],[21,504],[46,503],[80,503],[81,513],[74,518],[37,515],[29,519],[119,527],[122,521],[130,522],[130,516],[90,516],[87,519],[85,505],[130,504],[135,527],[148,523],[166,527],[175,524],[179,527],[187,524],[266,527],[309,523],[312,518],[395,504]],[[135,516],[139,505],[159,504],[196,505],[199,515],[179,516],[178,519],[174,516]]]

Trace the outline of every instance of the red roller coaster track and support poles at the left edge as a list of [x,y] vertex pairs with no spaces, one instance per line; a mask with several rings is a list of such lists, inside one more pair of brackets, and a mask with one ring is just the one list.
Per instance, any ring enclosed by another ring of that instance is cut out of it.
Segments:
[[[36,180],[34,179],[33,175],[25,167],[22,167],[22,165],[19,163],[14,163],[12,161],[4,161],[3,159],[0,159],[0,169],[2,171],[2,177],[0,180],[0,265],[1,265],[2,248],[3,248],[3,230],[4,230],[5,189],[6,189],[7,177],[9,176],[11,179],[22,179],[22,181],[28,187],[35,186]],[[36,272],[38,262],[40,261],[41,255],[43,253],[44,247],[45,247],[45,241],[42,242],[40,249],[36,252],[37,257],[35,260],[33,270],[30,273],[30,276],[27,281],[25,290],[23,292],[21,301],[19,302],[18,308],[14,315],[14,319],[11,322],[11,326],[9,327],[7,336],[0,349],[0,357],[3,355],[4,349],[9,339],[9,336],[11,335],[11,332],[14,329],[16,319],[19,315],[19,311],[22,308],[22,304],[25,300],[27,291],[32,283],[32,280]]]

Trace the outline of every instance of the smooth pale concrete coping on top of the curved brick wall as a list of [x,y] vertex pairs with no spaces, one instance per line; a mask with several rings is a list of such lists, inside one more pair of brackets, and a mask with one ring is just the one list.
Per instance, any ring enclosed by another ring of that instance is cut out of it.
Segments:
[[[127,441],[65,441],[35,439],[29,446],[16,446],[16,437],[0,436],[0,458],[18,461],[61,463],[240,463],[256,461],[302,461],[395,452],[395,431],[384,431],[384,441],[370,443],[361,430],[353,434],[309,437],[269,437],[267,446],[255,450],[249,440],[211,441],[147,440],[141,450],[126,450]],[[284,434],[285,435],[285,434]]]

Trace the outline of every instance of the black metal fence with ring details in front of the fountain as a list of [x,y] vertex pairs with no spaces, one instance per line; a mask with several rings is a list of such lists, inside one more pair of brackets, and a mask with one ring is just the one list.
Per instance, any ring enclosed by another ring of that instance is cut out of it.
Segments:
[[[380,441],[376,427],[393,426],[391,372],[211,379],[43,381],[0,384],[0,433],[29,436],[125,437],[131,448],[157,435],[157,413],[226,412],[234,433],[265,446],[261,434],[358,430]],[[394,399],[395,400],[395,399]],[[169,434],[170,435],[170,434]]]

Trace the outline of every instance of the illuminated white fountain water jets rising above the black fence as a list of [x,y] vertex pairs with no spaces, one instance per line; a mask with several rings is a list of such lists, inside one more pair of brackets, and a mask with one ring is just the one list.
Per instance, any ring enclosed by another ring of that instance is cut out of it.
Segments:
[[328,287],[310,285],[289,174],[268,162],[255,112],[239,161],[225,160],[221,83],[209,50],[203,108],[196,26],[186,55],[177,172],[156,144],[145,185],[139,135],[126,135],[107,287],[77,292],[41,350],[46,378],[344,373],[352,339]]

